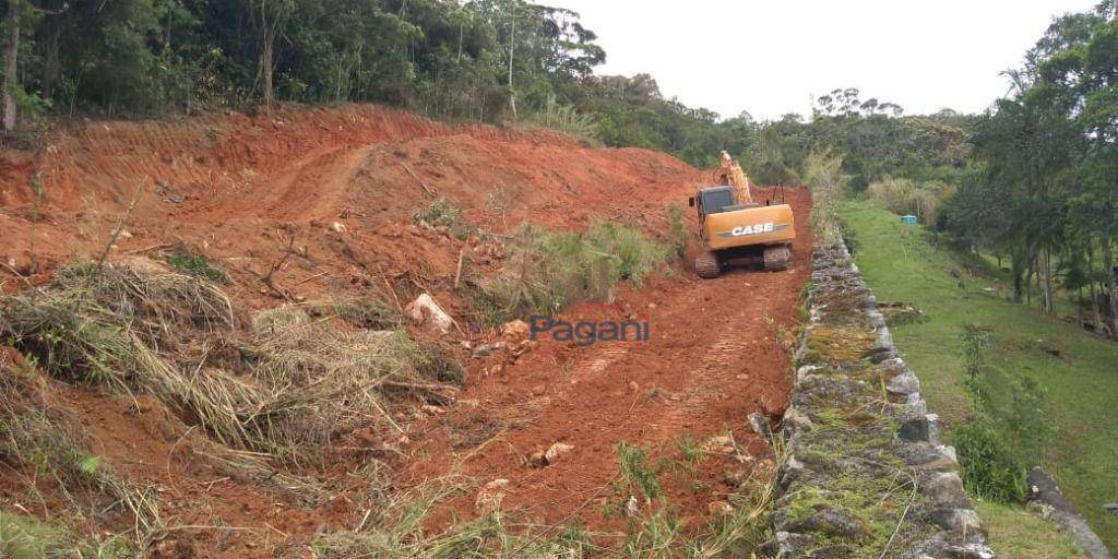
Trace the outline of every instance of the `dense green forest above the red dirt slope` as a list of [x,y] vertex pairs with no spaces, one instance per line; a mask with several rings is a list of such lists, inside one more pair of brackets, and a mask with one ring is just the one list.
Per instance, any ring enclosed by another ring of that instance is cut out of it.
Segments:
[[[748,115],[664,98],[605,61],[577,13],[523,0],[8,0],[6,130],[49,116],[377,102],[517,122],[709,163]],[[12,47],[18,45],[18,47]]]

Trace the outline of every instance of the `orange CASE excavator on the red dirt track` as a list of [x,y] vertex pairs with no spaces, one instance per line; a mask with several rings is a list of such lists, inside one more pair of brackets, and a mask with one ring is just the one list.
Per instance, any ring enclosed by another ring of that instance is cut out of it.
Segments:
[[699,277],[718,277],[731,264],[760,264],[773,272],[787,269],[796,224],[784,197],[757,201],[741,165],[724,151],[719,157],[714,183],[699,189],[688,200],[699,214],[703,243],[703,252],[695,257]]

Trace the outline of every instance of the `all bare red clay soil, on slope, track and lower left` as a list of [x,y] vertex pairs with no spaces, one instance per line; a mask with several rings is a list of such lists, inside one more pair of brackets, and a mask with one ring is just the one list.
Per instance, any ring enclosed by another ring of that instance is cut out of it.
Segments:
[[[44,284],[75,258],[96,258],[127,215],[111,260],[205,254],[228,272],[227,291],[246,307],[361,295],[388,280],[400,302],[429,292],[465,326],[466,302],[454,290],[458,262],[466,273],[491,274],[501,266],[500,246],[417,227],[416,210],[445,197],[468,222],[494,233],[522,221],[579,229],[612,219],[655,236],[666,226],[665,209],[683,203],[707,176],[663,153],[452,126],[367,105],[84,123],[54,132],[32,154],[0,151],[0,292]],[[404,418],[395,485],[449,473],[479,484],[506,479],[509,510],[549,523],[577,517],[596,532],[615,532],[623,523],[603,518],[600,499],[613,496],[617,443],[666,448],[684,435],[701,443],[732,434],[747,454],[764,456],[746,416],[775,416],[786,405],[789,357],[780,338],[797,320],[809,274],[809,200],[800,189],[788,198],[799,236],[790,271],[735,271],[701,282],[676,267],[641,288],[622,288],[613,305],[565,311],[574,320],[646,320],[647,342],[584,348],[542,340],[514,361],[505,353],[470,359],[463,350],[468,376],[458,402]],[[267,286],[262,277],[273,267]],[[476,345],[495,335],[466,328],[448,341]],[[180,527],[168,534],[169,557],[181,541],[199,557],[305,551],[318,531],[361,521],[367,487],[348,474],[363,465],[360,454],[340,453],[329,471],[315,472],[334,496],[307,504],[275,483],[230,473],[208,456],[203,435],[155,401],[83,387],[56,391],[94,435],[97,455],[138,484],[159,487],[164,520]],[[574,448],[548,467],[525,464],[556,442]],[[709,518],[708,504],[729,490],[722,474],[758,462],[716,448],[700,466],[701,490],[669,484],[683,520]],[[0,505],[51,515],[28,504],[12,489],[11,467],[0,465]],[[472,492],[446,503],[433,522],[452,515],[474,515]]]

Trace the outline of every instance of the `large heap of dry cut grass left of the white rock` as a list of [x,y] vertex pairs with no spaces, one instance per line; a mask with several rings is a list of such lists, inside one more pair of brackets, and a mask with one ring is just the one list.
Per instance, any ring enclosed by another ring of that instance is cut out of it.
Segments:
[[[267,311],[245,334],[203,280],[77,265],[0,301],[0,333],[51,375],[151,394],[224,445],[305,463],[348,429],[392,425],[392,397],[440,388],[424,380],[432,352],[405,331],[331,307]],[[380,306],[345,309],[390,323]]]

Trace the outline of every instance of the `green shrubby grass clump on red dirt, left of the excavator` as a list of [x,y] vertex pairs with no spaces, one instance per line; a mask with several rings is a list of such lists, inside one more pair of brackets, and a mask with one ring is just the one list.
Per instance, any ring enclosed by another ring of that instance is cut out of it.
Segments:
[[597,221],[585,233],[525,225],[509,240],[508,252],[498,276],[477,282],[475,322],[498,324],[580,301],[608,302],[618,282],[641,285],[678,255],[675,247],[610,221]]

